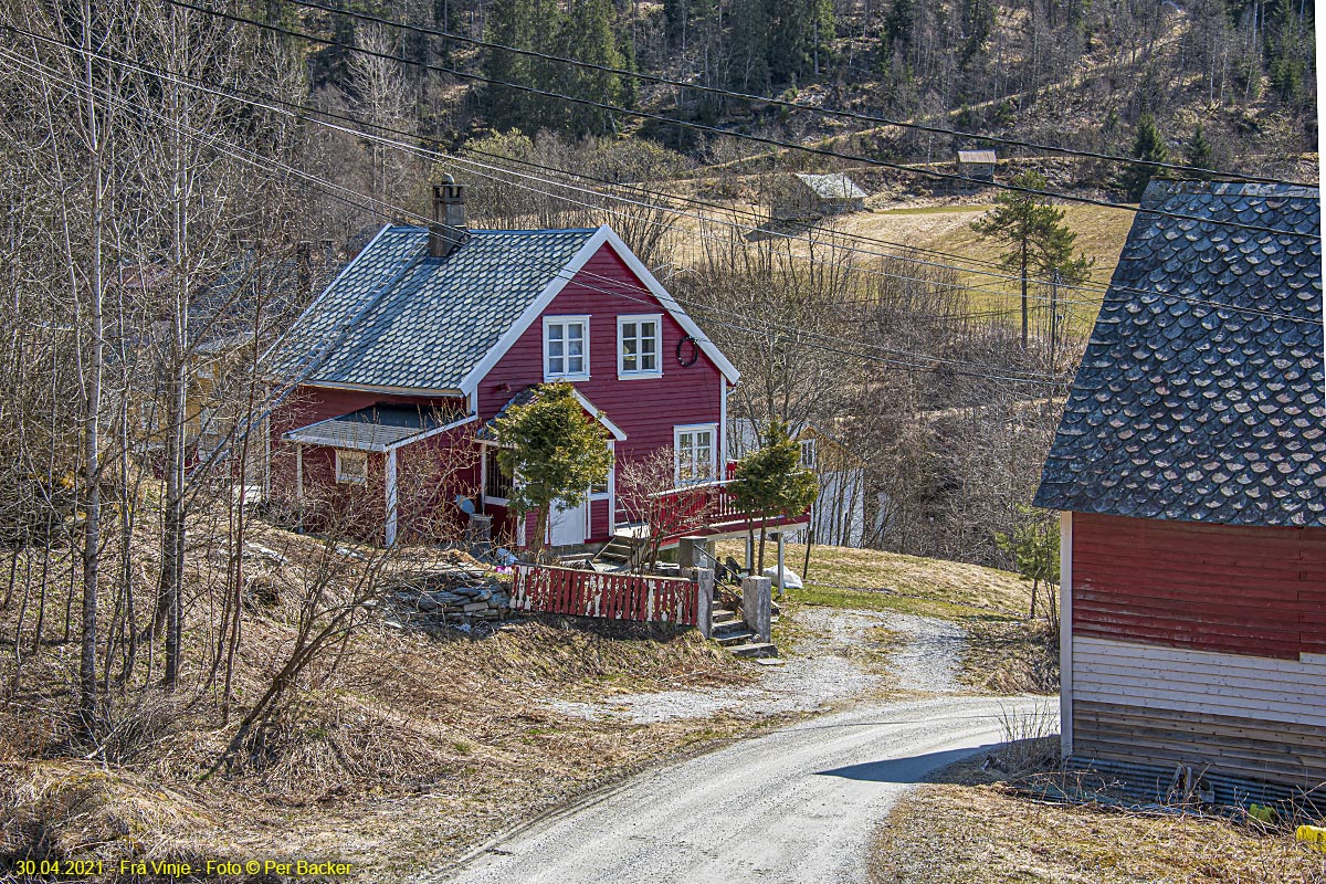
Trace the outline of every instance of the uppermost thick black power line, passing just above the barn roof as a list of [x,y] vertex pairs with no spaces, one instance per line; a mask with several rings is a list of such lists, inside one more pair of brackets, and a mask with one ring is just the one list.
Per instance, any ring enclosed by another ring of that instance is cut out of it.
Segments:
[[1246,174],[1242,174],[1242,172],[1224,172],[1224,171],[1220,171],[1220,170],[1203,168],[1200,166],[1184,166],[1184,164],[1180,164],[1180,163],[1163,163],[1163,162],[1156,162],[1156,160],[1144,160],[1144,159],[1138,159],[1138,158],[1134,158],[1134,156],[1119,156],[1116,154],[1103,154],[1103,152],[1099,152],[1099,151],[1089,151],[1089,150],[1081,150],[1081,148],[1061,147],[1061,146],[1057,146],[1057,144],[1042,144],[1042,143],[1037,143],[1037,142],[1020,140],[1020,139],[1016,139],[1016,138],[1002,138],[1002,137],[998,137],[998,135],[983,135],[983,134],[979,134],[979,133],[969,133],[969,131],[963,131],[963,130],[957,130],[957,129],[949,129],[949,127],[945,127],[945,126],[934,126],[934,125],[930,125],[930,123],[916,123],[916,122],[911,122],[911,121],[892,119],[892,118],[888,118],[888,117],[876,117],[874,114],[862,114],[862,113],[858,113],[858,111],[839,110],[839,109],[835,109],[835,107],[819,107],[819,106],[814,106],[814,105],[802,105],[802,103],[798,103],[798,102],[794,102],[794,101],[788,101],[785,98],[774,98],[774,97],[770,97],[770,95],[757,95],[757,94],[752,94],[752,93],[733,91],[733,90],[729,90],[729,89],[717,89],[715,86],[705,86],[705,85],[701,85],[701,83],[690,83],[690,82],[680,81],[680,80],[671,80],[668,77],[659,77],[659,76],[655,76],[655,74],[642,73],[639,70],[627,70],[625,68],[614,68],[614,66],[610,66],[610,65],[598,65],[598,64],[594,64],[594,62],[582,61],[579,58],[572,58],[572,57],[568,57],[568,56],[554,56],[554,54],[550,54],[550,53],[536,52],[533,49],[521,49],[518,46],[509,46],[509,45],[505,45],[505,44],[492,42],[492,41],[488,41],[488,40],[479,40],[477,37],[468,37],[465,34],[459,34],[459,33],[453,33],[453,32],[450,32],[450,30],[440,30],[438,28],[424,28],[422,25],[408,24],[408,23],[404,23],[404,21],[396,21],[394,19],[385,19],[385,17],[381,17],[381,16],[369,15],[366,12],[358,12],[358,11],[354,11],[354,9],[345,9],[345,8],[341,8],[341,7],[333,7],[333,5],[328,5],[328,4],[322,4],[322,3],[314,3],[313,0],[282,0],[282,1],[284,3],[289,3],[292,5],[297,5],[297,7],[305,7],[305,8],[310,8],[310,9],[321,9],[322,12],[330,12],[330,13],[334,13],[334,15],[341,15],[341,16],[346,16],[346,17],[351,17],[351,19],[358,19],[361,21],[371,21],[374,24],[381,24],[381,25],[387,25],[387,27],[391,27],[391,28],[398,28],[400,30],[410,30],[410,32],[414,32],[414,33],[427,34],[427,36],[432,36],[432,37],[443,37],[446,40],[455,40],[457,42],[465,42],[465,44],[469,44],[469,45],[473,45],[473,46],[483,46],[485,49],[499,49],[501,52],[509,52],[509,53],[513,53],[513,54],[525,56],[525,57],[530,57],[530,58],[541,58],[544,61],[554,61],[557,64],[572,65],[572,66],[575,66],[575,68],[583,68],[586,70],[597,70],[597,72],[601,72],[601,73],[617,74],[619,77],[631,77],[631,78],[635,78],[635,80],[642,80],[642,81],[646,81],[646,82],[659,83],[659,85],[664,85],[664,86],[675,86],[678,89],[690,89],[690,90],[693,90],[693,91],[697,91],[697,93],[704,93],[704,94],[711,94],[711,95],[720,95],[720,97],[724,97],[724,98],[736,98],[739,101],[745,101],[745,102],[752,102],[752,103],[770,105],[773,107],[784,107],[786,110],[809,111],[809,113],[814,113],[814,114],[822,114],[822,115],[826,115],[826,117],[838,117],[838,118],[842,118],[842,119],[855,119],[858,122],[884,125],[884,126],[896,126],[896,127],[900,127],[900,129],[912,129],[912,130],[916,130],[916,131],[930,133],[930,134],[934,134],[934,135],[952,135],[952,137],[956,137],[956,138],[980,139],[980,140],[993,142],[993,143],[998,143],[998,144],[1006,144],[1009,147],[1026,147],[1026,148],[1032,148],[1032,150],[1050,151],[1050,152],[1054,152],[1054,154],[1065,154],[1065,155],[1069,155],[1069,156],[1085,156],[1085,158],[1089,158],[1089,159],[1102,159],[1102,160],[1110,160],[1110,162],[1115,162],[1115,163],[1127,163],[1130,166],[1147,166],[1150,168],[1156,168],[1156,170],[1172,170],[1172,171],[1211,175],[1211,176],[1216,176],[1216,178],[1231,178],[1231,179],[1237,179],[1237,180],[1244,180],[1244,182],[1257,182],[1257,183],[1266,183],[1266,184],[1305,186],[1301,182],[1289,182],[1289,180],[1277,179],[1277,178],[1265,178],[1265,176],[1257,176],[1257,175],[1246,175]]

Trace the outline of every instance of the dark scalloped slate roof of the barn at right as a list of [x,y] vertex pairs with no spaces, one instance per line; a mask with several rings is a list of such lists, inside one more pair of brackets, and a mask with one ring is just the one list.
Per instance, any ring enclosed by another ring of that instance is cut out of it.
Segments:
[[1322,362],[1318,188],[1155,182],[1034,502],[1139,518],[1323,526]]

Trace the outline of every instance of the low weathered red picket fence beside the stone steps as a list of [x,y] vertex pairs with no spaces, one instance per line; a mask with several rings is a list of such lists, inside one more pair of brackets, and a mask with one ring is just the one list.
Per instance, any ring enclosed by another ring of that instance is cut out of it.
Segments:
[[696,626],[699,584],[675,577],[517,565],[511,607],[516,611]]

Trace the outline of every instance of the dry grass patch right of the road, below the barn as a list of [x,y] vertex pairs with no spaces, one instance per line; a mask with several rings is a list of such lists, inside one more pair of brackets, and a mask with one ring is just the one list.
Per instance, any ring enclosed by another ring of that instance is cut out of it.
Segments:
[[875,884],[1322,884],[1322,854],[1219,818],[1045,804],[1002,785],[926,785],[899,802]]

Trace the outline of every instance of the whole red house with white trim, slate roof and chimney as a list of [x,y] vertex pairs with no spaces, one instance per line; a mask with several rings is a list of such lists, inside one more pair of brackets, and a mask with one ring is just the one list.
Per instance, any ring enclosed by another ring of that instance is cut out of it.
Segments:
[[[521,543],[512,480],[484,429],[550,380],[574,384],[618,463],[675,448],[679,485],[721,478],[737,370],[617,233],[467,229],[464,188],[451,182],[434,201],[434,225],[385,227],[278,345],[289,394],[272,439],[294,456],[273,469],[277,496],[367,498],[363,533],[392,543],[438,512],[459,513],[461,494]],[[473,465],[411,484],[448,452]],[[614,478],[553,514],[554,546],[613,534]]]

